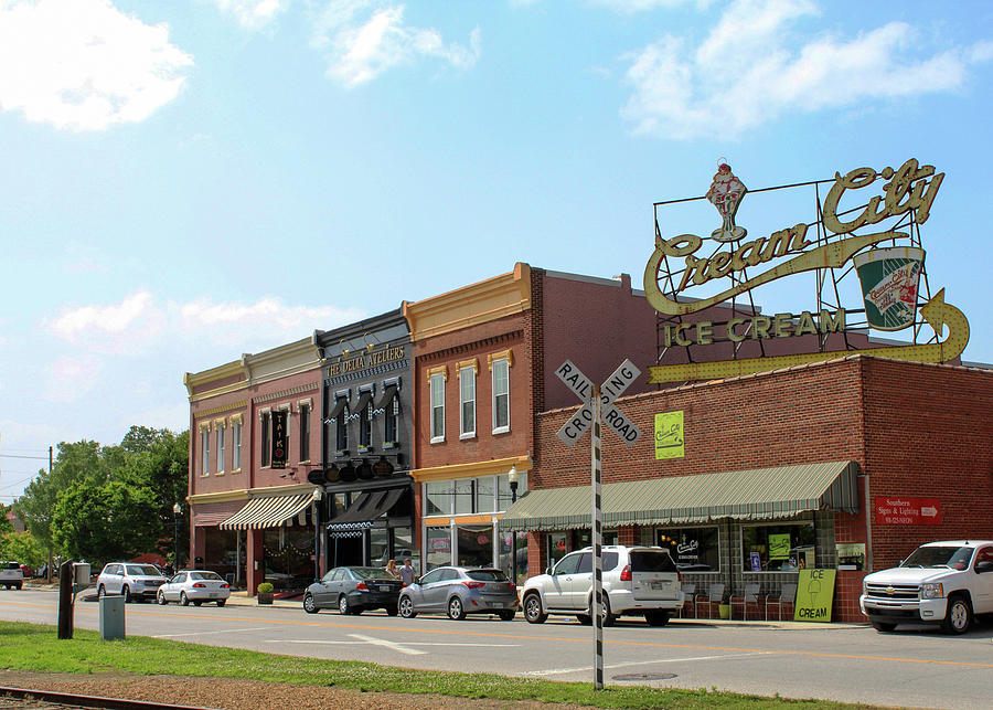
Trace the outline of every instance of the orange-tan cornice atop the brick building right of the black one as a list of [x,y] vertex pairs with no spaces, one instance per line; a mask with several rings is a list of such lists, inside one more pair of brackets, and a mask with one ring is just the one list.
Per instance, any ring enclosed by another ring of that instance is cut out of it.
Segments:
[[410,340],[451,332],[531,308],[531,266],[523,262],[514,271],[415,303],[404,301]]

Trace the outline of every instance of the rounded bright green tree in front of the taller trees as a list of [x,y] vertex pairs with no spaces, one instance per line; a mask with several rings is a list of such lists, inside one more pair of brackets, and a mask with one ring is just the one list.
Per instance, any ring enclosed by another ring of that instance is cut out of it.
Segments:
[[52,516],[55,544],[75,560],[127,560],[151,549],[158,528],[156,505],[147,488],[120,480],[94,486],[74,481],[58,496]]

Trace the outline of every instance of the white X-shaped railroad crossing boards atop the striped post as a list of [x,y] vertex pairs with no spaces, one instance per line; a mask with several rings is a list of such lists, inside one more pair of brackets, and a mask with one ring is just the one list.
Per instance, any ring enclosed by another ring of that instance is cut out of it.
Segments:
[[[570,360],[566,360],[555,374],[569,388],[573,393],[585,402],[578,412],[558,430],[558,438],[563,444],[572,448],[579,441],[594,422],[594,383]],[[641,370],[634,367],[630,360],[624,360],[609,378],[600,385],[600,409],[604,423],[615,434],[620,436],[628,446],[632,445],[641,436],[641,431],[624,416],[619,409],[613,406],[613,401],[639,378]]]

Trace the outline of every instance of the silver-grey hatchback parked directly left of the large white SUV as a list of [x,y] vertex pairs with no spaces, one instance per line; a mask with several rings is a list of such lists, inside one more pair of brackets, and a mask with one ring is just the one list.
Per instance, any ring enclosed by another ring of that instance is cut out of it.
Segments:
[[448,614],[462,619],[467,614],[496,614],[505,622],[517,612],[517,587],[502,570],[436,568],[399,596],[399,614],[414,618],[421,613]]

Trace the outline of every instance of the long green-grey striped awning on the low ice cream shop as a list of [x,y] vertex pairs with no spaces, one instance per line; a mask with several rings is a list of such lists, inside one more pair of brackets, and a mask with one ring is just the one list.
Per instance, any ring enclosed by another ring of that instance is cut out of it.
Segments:
[[[834,509],[858,512],[855,462],[778,466],[605,484],[605,527],[768,520]],[[500,519],[503,530],[589,526],[589,486],[528,490]]]

